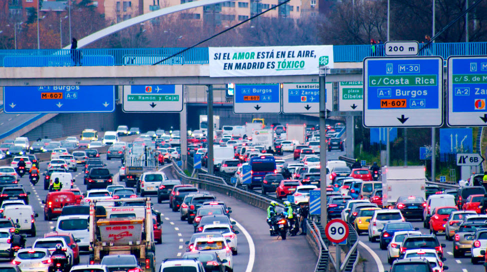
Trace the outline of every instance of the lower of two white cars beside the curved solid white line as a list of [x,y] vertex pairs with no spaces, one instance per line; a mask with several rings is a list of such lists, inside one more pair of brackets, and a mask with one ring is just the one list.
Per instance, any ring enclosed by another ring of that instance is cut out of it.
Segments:
[[221,260],[226,260],[224,263],[231,271],[233,271],[233,255],[231,249],[226,243],[225,237],[200,237],[194,240],[194,246],[191,252],[198,251],[213,251]]

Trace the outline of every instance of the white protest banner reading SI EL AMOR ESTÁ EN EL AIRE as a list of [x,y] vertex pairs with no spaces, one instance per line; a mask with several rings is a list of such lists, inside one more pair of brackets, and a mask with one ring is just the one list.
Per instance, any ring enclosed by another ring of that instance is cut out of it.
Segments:
[[209,76],[318,74],[333,68],[333,45],[209,47]]

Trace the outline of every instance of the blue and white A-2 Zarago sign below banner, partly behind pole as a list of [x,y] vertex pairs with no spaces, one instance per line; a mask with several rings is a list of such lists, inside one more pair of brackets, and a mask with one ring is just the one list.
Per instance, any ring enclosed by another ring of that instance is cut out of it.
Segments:
[[[333,83],[325,83],[326,109],[333,110]],[[319,83],[283,83],[282,113],[318,113]]]

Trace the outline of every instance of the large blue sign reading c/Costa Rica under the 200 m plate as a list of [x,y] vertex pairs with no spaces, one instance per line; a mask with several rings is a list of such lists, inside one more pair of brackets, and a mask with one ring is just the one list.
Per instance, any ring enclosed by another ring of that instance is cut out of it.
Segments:
[[441,126],[443,59],[367,57],[363,60],[363,125]]

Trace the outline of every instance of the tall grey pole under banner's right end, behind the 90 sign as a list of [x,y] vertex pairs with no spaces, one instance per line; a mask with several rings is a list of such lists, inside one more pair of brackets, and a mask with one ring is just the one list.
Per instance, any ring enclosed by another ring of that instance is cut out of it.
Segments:
[[[320,210],[321,210],[321,224],[327,221],[326,214],[326,103],[325,103],[325,82],[326,70],[324,65],[319,66],[319,178],[320,178]],[[348,126],[348,125],[347,125]]]

